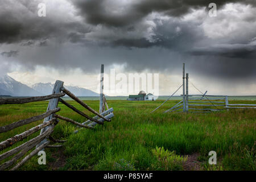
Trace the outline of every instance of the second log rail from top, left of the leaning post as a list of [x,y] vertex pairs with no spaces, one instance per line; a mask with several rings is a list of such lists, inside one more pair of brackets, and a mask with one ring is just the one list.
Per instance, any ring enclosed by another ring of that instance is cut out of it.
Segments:
[[15,129],[16,127],[27,125],[29,123],[32,123],[32,122],[38,121],[40,119],[46,118],[46,117],[48,117],[49,115],[51,115],[53,113],[57,113],[58,111],[60,111],[60,108],[48,110],[46,113],[43,113],[41,115],[36,115],[34,117],[31,117],[31,118],[22,119],[20,121],[11,123],[10,125],[1,126],[0,127],[0,133],[7,132],[7,131]]

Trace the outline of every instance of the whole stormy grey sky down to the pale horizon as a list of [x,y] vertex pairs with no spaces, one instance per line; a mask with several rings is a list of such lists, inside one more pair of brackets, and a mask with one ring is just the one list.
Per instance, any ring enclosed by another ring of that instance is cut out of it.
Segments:
[[[215,17],[208,14],[212,2]],[[78,85],[82,77],[79,86],[97,92],[105,64],[106,72],[160,73],[160,94],[170,94],[185,63],[202,91],[256,94],[254,0],[0,3],[0,75],[25,84],[62,79]],[[39,3],[46,4],[46,17],[38,16]]]

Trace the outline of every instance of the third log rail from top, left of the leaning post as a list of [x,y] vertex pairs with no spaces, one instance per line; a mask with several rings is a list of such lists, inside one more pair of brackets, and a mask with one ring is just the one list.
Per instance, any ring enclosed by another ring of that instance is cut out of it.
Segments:
[[15,135],[14,137],[11,137],[3,142],[0,143],[0,151],[12,146],[14,143],[19,142],[20,140],[23,140],[24,138],[28,137],[29,135],[35,133],[36,131],[51,125],[53,122],[56,121],[56,118],[52,118],[51,120],[44,122],[38,126],[32,127],[32,129],[24,131],[21,134]]

